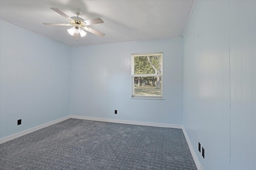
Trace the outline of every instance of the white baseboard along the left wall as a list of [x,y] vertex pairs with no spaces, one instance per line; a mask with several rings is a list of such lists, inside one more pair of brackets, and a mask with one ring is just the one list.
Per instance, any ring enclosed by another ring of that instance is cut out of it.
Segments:
[[15,139],[15,138],[17,138],[17,137],[21,137],[21,136],[26,135],[26,134],[28,134],[28,133],[37,131],[37,130],[39,130],[39,129],[43,129],[43,128],[48,127],[48,126],[50,126],[50,125],[54,125],[54,124],[56,124],[56,123],[59,123],[59,122],[61,122],[61,121],[66,120],[66,119],[70,119],[70,115],[69,115],[69,116],[66,116],[66,117],[63,117],[63,118],[60,118],[60,119],[57,119],[57,120],[54,120],[54,121],[50,121],[50,122],[45,123],[45,124],[43,124],[43,125],[39,125],[39,126],[33,127],[33,128],[31,128],[31,129],[28,129],[28,130],[25,130],[25,131],[16,133],[16,134],[14,134],[14,135],[10,135],[10,136],[8,136],[8,137],[4,137],[4,138],[0,139],[0,144],[1,144],[1,143],[5,143],[5,142],[7,142],[7,141],[10,141],[10,140],[12,140],[12,139]]

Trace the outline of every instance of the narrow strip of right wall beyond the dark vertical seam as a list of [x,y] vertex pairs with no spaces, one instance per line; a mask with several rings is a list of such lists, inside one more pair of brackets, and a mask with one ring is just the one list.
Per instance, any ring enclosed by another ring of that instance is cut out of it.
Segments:
[[256,1],[230,1],[230,168],[255,170]]

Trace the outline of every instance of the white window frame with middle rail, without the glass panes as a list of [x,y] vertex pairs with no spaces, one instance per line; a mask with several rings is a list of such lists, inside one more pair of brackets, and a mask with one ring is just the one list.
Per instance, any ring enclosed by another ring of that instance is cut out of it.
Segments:
[[[134,57],[142,57],[142,56],[152,56],[152,55],[161,55],[161,64],[162,64],[162,69],[161,69],[161,74],[134,74]],[[164,100],[164,64],[163,64],[163,53],[137,53],[137,54],[132,54],[132,97],[131,98],[141,98],[141,99],[160,99]],[[134,95],[134,77],[161,77],[161,96],[146,96],[146,95]]]

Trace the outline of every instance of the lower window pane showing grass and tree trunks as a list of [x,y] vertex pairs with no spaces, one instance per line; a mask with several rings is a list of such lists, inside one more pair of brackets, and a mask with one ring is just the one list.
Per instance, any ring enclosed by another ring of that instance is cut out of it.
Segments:
[[161,77],[134,77],[135,96],[161,96]]

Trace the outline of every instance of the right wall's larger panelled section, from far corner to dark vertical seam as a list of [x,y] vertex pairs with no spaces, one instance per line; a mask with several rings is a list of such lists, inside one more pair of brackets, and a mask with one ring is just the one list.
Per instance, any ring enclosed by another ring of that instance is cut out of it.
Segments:
[[227,9],[227,1],[196,2],[184,35],[183,122],[204,170],[229,168]]

